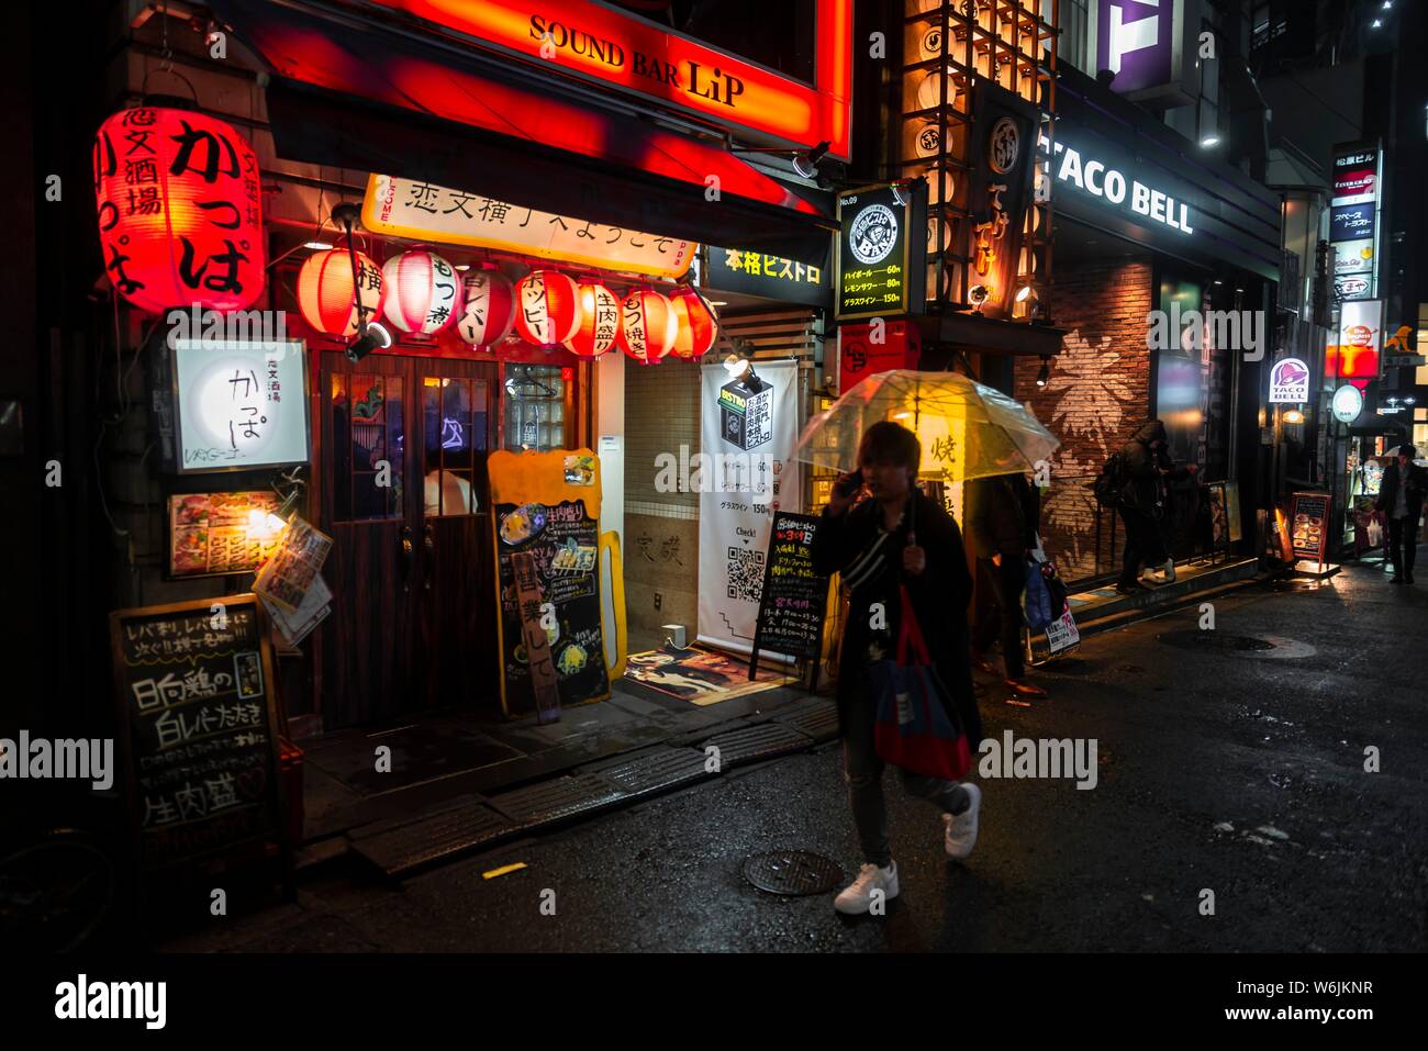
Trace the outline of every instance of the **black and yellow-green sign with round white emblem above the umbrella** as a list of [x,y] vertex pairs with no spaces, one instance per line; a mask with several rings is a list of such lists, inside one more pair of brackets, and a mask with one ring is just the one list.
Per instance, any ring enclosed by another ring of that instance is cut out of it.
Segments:
[[[838,317],[895,317],[922,313],[927,183],[868,186],[838,194],[838,258],[834,308]],[[918,280],[910,280],[910,274]]]

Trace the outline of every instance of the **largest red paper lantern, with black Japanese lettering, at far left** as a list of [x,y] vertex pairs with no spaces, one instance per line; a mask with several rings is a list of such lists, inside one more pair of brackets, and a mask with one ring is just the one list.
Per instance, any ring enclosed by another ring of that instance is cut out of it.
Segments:
[[94,136],[104,271],[140,310],[244,310],[263,294],[258,159],[221,120],[141,106]]

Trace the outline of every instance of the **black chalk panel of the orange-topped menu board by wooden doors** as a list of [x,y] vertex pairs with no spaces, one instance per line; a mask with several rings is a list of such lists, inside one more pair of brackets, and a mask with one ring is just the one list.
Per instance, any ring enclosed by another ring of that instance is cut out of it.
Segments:
[[[528,553],[540,595],[540,620],[555,665],[561,705],[610,695],[600,624],[600,524],[583,500],[555,504],[496,504],[496,548],[501,587],[501,663],[506,707],[536,711],[530,654],[521,634],[521,588],[514,555]],[[526,581],[527,600],[530,583]],[[548,605],[547,605],[548,604]]]

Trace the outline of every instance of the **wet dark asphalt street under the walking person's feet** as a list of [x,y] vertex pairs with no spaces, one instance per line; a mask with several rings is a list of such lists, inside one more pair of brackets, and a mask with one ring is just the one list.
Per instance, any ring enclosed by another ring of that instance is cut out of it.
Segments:
[[[1097,785],[981,780],[972,857],[885,775],[901,895],[845,918],[775,897],[750,854],[860,863],[837,745],[507,844],[401,884],[324,873],[296,904],[213,920],[171,950],[1422,951],[1428,948],[1428,584],[1352,567],[1257,585],[1088,638],[985,734],[1095,738]],[[1274,648],[1230,645],[1230,635]],[[1379,773],[1365,773],[1365,748]],[[496,878],[490,870],[524,863]],[[1214,915],[1202,915],[1202,891]],[[544,894],[554,891],[554,895]],[[541,905],[554,915],[543,915]]]

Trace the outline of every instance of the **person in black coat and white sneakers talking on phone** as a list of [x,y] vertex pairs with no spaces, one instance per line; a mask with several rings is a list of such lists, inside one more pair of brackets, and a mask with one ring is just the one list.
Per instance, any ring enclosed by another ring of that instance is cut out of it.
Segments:
[[[967,651],[967,571],[957,523],[915,486],[921,447],[895,423],[868,427],[858,446],[858,473],[834,486],[813,541],[814,568],[840,573],[848,591],[848,617],[838,653],[838,718],[844,777],[858,830],[864,865],[834,901],[840,912],[867,912],[881,892],[898,894],[897,864],[887,835],[883,760],[874,748],[877,697],[870,664],[894,657],[905,584],[927,650],[951,697],[950,714],[961,724],[972,753],[981,743],[981,718],[972,695]],[[867,498],[855,503],[867,484]],[[967,857],[977,841],[981,790],[900,771],[904,788],[941,807],[942,845]]]

